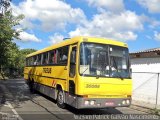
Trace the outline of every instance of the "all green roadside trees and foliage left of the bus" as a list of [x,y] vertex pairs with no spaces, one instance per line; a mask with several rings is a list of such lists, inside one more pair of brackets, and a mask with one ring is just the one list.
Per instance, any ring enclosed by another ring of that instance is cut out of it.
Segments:
[[[25,56],[36,50],[20,49],[14,39],[19,39],[23,29],[18,28],[24,15],[13,16],[10,2],[0,1],[0,79],[22,75]],[[19,39],[20,40],[20,39]]]

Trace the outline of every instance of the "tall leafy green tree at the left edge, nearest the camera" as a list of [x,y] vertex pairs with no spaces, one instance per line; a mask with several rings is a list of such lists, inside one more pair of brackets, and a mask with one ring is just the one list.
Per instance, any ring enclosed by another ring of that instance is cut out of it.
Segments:
[[[0,68],[11,65],[18,51],[13,39],[18,39],[21,31],[16,30],[24,15],[13,16],[10,9],[10,0],[0,1]],[[1,71],[0,71],[1,72]]]

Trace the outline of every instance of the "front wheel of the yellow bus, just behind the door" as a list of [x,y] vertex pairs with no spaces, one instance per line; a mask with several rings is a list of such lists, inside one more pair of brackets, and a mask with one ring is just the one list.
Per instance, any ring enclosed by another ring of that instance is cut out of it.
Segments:
[[60,89],[58,90],[57,94],[57,106],[64,109],[65,103],[64,103],[64,92]]

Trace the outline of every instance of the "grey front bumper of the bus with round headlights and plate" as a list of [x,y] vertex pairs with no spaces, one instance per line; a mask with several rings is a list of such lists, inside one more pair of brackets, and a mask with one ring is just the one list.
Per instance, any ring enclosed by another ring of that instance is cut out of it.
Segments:
[[69,96],[67,104],[77,109],[129,107],[131,105],[131,98],[84,98]]

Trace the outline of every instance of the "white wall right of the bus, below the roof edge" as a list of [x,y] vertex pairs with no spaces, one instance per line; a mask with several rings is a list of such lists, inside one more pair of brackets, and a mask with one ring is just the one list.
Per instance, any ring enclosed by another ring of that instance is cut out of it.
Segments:
[[157,80],[160,73],[160,58],[132,58],[133,97],[140,104],[160,105],[160,80],[157,98]]

